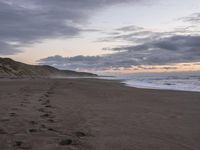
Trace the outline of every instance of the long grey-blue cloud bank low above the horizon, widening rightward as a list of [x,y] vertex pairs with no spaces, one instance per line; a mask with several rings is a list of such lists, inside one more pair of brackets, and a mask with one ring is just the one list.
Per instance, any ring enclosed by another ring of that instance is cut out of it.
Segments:
[[[171,36],[141,45],[115,48],[121,52],[103,56],[53,56],[41,64],[62,69],[113,69],[141,65],[166,65],[200,61],[200,36]],[[164,68],[165,69],[165,68]]]

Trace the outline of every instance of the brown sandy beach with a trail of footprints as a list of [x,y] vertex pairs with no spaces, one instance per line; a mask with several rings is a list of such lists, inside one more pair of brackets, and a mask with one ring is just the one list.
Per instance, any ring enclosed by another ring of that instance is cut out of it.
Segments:
[[0,80],[0,150],[199,150],[200,93]]

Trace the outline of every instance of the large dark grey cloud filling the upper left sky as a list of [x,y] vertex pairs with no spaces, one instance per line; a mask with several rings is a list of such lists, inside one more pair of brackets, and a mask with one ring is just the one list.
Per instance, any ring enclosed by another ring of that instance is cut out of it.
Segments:
[[[69,38],[81,31],[94,11],[138,0],[0,0],[0,54],[15,54],[18,48],[49,38]],[[7,49],[7,51],[6,51]]]

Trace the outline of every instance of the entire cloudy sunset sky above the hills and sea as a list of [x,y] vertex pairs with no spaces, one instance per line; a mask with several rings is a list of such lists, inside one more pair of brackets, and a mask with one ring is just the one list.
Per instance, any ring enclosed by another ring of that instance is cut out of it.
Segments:
[[0,0],[0,57],[103,73],[200,70],[200,3]]

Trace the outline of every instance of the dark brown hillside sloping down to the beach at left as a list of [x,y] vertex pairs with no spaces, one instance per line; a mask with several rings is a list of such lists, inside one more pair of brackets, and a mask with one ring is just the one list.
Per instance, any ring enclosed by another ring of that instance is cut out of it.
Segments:
[[0,78],[48,78],[48,77],[97,76],[92,73],[58,70],[51,66],[27,65],[10,58],[0,58]]

